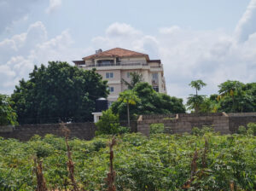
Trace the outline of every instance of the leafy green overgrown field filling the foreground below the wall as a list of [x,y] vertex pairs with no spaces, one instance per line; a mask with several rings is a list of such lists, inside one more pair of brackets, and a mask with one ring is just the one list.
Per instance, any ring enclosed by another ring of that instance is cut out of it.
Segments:
[[[107,188],[109,141],[69,141],[81,190]],[[255,136],[125,134],[116,141],[117,190],[256,190]],[[65,139],[48,135],[29,142],[0,137],[0,190],[35,190],[35,156],[48,188],[70,188]]]

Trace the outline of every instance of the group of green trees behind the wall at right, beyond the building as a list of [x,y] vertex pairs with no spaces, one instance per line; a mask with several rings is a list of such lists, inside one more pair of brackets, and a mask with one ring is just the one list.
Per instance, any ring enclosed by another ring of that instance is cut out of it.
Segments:
[[195,113],[249,113],[256,112],[256,83],[243,84],[239,81],[226,81],[218,85],[218,94],[198,95],[198,91],[207,84],[201,80],[189,84],[195,88],[187,106]]

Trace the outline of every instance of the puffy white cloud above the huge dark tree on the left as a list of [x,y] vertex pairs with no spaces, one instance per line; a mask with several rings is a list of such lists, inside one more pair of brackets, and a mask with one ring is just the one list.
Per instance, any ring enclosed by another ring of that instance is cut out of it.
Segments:
[[44,24],[33,23],[26,32],[0,42],[0,92],[10,94],[21,78],[27,78],[34,65],[48,61],[71,61],[73,39],[68,30],[49,39]]

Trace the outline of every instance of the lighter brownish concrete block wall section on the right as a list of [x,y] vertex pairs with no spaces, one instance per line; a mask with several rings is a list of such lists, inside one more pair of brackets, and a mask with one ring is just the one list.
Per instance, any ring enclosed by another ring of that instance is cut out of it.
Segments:
[[210,126],[221,134],[236,133],[240,125],[256,122],[256,113],[179,113],[176,115],[141,115],[137,131],[149,136],[150,124],[162,123],[166,133],[190,133],[193,127]]

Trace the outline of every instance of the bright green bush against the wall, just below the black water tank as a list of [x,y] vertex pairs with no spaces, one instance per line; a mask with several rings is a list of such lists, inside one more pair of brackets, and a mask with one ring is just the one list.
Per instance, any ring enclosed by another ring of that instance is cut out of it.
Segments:
[[96,135],[116,135],[128,132],[127,127],[121,127],[119,124],[119,115],[113,114],[111,109],[102,112],[101,119],[96,123]]

